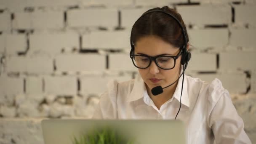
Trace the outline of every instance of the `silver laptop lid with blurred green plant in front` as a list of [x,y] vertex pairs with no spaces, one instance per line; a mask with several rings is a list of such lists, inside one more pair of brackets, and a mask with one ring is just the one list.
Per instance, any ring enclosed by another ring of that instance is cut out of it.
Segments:
[[179,120],[47,119],[41,126],[45,144],[186,143]]

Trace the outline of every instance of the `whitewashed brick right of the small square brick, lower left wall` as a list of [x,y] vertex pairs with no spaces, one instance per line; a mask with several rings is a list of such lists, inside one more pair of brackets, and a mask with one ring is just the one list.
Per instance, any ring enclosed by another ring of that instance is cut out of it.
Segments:
[[63,76],[45,76],[45,93],[54,95],[77,94],[77,78]]

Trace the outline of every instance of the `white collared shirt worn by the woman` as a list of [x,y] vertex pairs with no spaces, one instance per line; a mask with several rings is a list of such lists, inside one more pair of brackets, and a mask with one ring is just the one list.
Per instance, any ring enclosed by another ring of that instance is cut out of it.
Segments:
[[[95,119],[174,119],[180,106],[182,77],[173,97],[158,110],[150,99],[144,81],[136,79],[108,83],[96,107]],[[188,144],[251,144],[242,118],[229,93],[218,79],[206,83],[184,76],[181,110],[177,119],[187,126]]]

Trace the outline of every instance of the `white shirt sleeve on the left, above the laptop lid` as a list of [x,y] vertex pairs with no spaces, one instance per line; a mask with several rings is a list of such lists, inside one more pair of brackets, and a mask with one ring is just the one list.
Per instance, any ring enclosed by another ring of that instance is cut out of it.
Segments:
[[116,119],[117,118],[117,82],[110,81],[108,90],[101,95],[92,119]]

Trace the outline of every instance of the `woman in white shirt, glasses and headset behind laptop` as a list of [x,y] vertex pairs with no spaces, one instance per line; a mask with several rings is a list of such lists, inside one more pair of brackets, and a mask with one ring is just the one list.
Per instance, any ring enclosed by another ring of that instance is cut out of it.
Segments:
[[206,83],[184,74],[190,59],[188,41],[175,10],[165,6],[145,12],[131,30],[130,57],[140,75],[109,83],[93,118],[177,118],[187,125],[189,144],[250,144],[221,82]]

